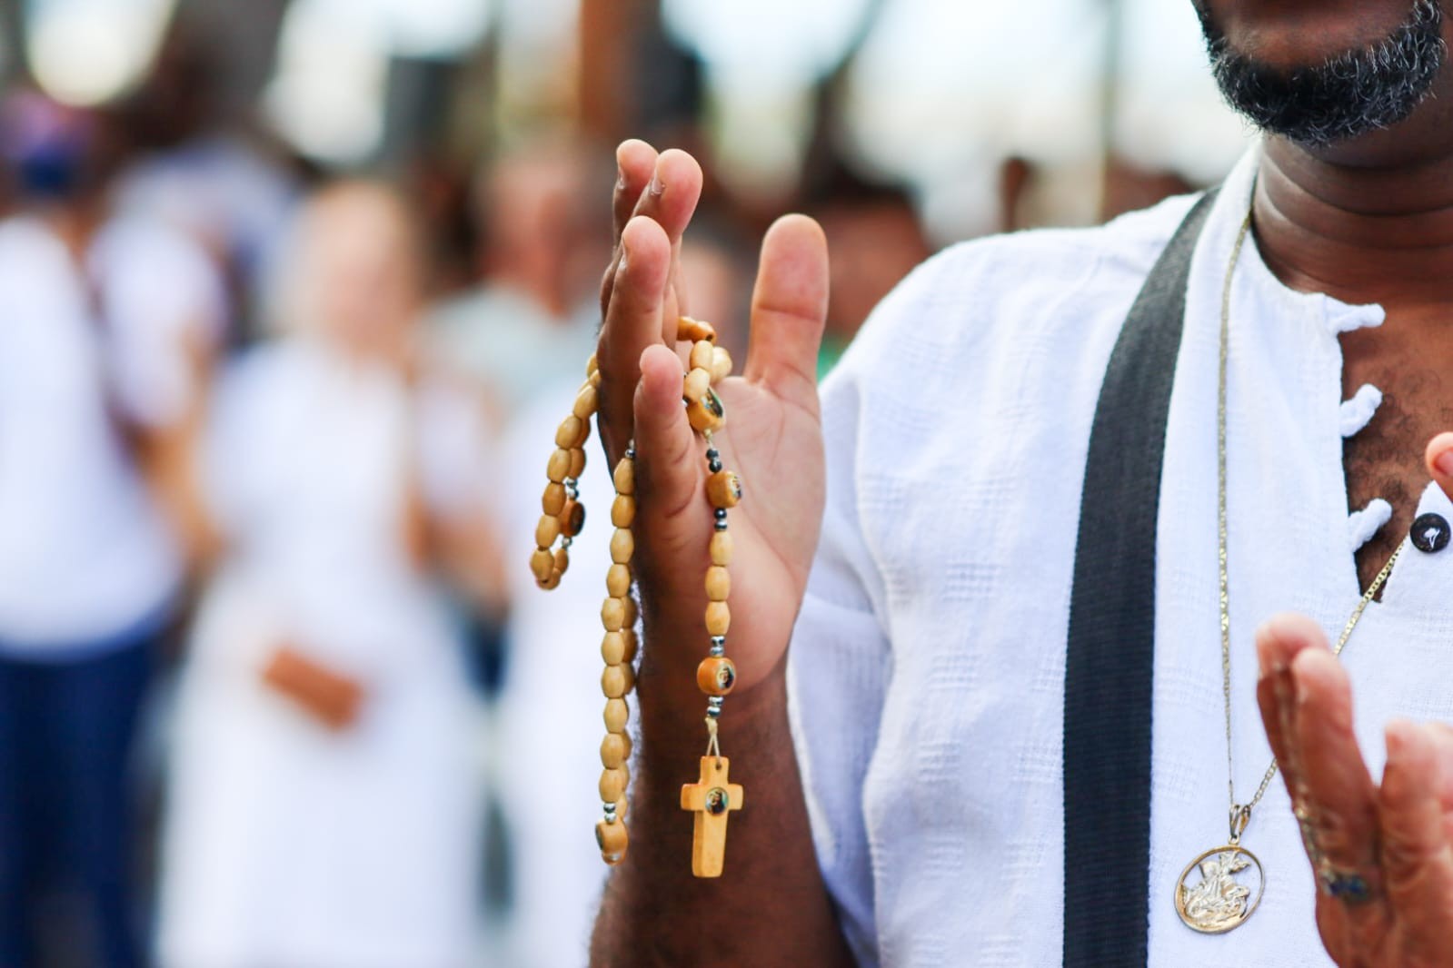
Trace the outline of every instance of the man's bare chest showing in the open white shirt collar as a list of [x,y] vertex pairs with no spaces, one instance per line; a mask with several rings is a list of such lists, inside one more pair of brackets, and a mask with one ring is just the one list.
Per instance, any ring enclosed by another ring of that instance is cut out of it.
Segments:
[[1383,392],[1372,422],[1343,446],[1348,511],[1377,498],[1392,505],[1392,521],[1357,553],[1363,588],[1412,525],[1428,485],[1422,463],[1428,441],[1453,430],[1453,338],[1437,334],[1431,344],[1398,338],[1392,324],[1343,337],[1344,399],[1367,383]]

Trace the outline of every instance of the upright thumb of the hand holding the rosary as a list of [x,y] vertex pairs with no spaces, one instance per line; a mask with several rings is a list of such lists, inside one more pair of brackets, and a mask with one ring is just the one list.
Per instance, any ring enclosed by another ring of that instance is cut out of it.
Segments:
[[812,414],[818,409],[817,361],[827,296],[822,226],[805,215],[777,219],[761,241],[751,295],[751,347],[742,374]]

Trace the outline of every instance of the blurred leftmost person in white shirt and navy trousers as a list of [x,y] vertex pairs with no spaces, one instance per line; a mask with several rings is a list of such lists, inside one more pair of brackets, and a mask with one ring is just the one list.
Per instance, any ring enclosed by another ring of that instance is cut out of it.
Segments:
[[131,968],[132,740],[222,289],[179,234],[112,216],[97,118],[29,93],[0,112],[22,197],[0,222],[0,964],[48,956],[60,893],[84,914],[60,935],[90,940],[71,956]]

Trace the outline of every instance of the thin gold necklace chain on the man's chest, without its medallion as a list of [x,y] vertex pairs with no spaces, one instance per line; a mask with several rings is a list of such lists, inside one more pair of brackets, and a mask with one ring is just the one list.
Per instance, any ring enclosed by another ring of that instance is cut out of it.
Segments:
[[[1226,797],[1231,804],[1231,842],[1232,845],[1241,840],[1241,834],[1245,833],[1247,824],[1251,823],[1251,811],[1255,810],[1257,804],[1266,795],[1267,788],[1277,775],[1277,762],[1271,760],[1267,768],[1266,775],[1261,776],[1261,785],[1257,787],[1255,795],[1247,804],[1237,803],[1237,779],[1235,768],[1232,765],[1232,745],[1231,745],[1231,588],[1226,572],[1226,370],[1228,360],[1231,356],[1231,283],[1235,279],[1237,263],[1241,261],[1241,250],[1247,244],[1247,238],[1251,235],[1251,215],[1248,213],[1245,221],[1241,223],[1241,232],[1237,235],[1237,244],[1231,250],[1231,263],[1226,266],[1226,282],[1221,293],[1221,373],[1218,379],[1218,398],[1216,398],[1216,536],[1219,540],[1219,566],[1221,566],[1221,678],[1222,678],[1222,694],[1225,698],[1226,708]],[[1337,640],[1337,646],[1332,649],[1334,656],[1341,656],[1343,649],[1347,647],[1347,640],[1351,639],[1353,630],[1357,628],[1357,623],[1361,621],[1363,612],[1367,605],[1377,598],[1377,592],[1388,582],[1388,576],[1392,575],[1393,566],[1398,563],[1398,557],[1402,554],[1402,546],[1392,553],[1388,563],[1383,565],[1377,578],[1373,579],[1372,585],[1367,586],[1367,592],[1357,602],[1357,608],[1353,610],[1351,617],[1348,617],[1347,624],[1343,627],[1343,634]]]

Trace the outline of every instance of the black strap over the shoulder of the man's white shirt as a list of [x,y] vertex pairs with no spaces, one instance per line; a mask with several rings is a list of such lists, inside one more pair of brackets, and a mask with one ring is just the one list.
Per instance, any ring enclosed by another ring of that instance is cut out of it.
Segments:
[[1145,280],[1090,434],[1065,665],[1067,968],[1146,961],[1155,524],[1186,283],[1215,197]]

